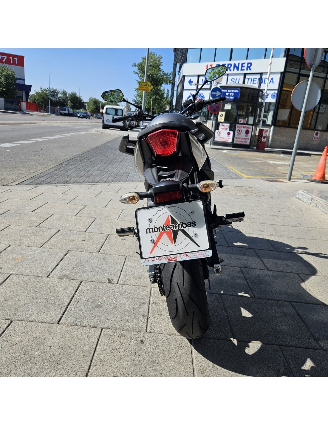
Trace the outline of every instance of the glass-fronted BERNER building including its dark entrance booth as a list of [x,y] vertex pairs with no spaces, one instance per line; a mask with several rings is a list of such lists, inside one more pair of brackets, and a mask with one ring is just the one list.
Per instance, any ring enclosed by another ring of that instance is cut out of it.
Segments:
[[[242,145],[243,142],[238,142],[237,130],[241,131],[244,124],[250,134],[244,147],[253,147],[259,130],[261,92],[266,87],[271,48],[175,48],[173,51],[175,79],[170,107],[182,109],[183,102],[204,82],[208,67],[226,65],[228,69],[222,81],[215,85],[208,83],[200,93],[201,98],[210,99],[211,89],[218,86],[222,96],[228,95],[213,122],[213,129],[215,125],[221,137],[216,134],[216,139],[220,140],[214,140],[214,144]],[[318,105],[305,114],[298,149],[322,151],[328,144],[327,73],[328,49],[323,49],[313,78],[321,90],[321,98]],[[291,94],[299,82],[309,79],[309,74],[304,49],[274,48],[262,125],[268,130],[267,146],[293,148],[301,112],[292,105]],[[200,119],[212,125],[212,114],[207,108],[201,112]],[[229,137],[222,138],[227,132]]]

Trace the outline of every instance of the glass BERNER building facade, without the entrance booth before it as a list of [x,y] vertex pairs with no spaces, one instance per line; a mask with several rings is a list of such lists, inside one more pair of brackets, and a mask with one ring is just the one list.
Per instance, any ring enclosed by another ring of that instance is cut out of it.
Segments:
[[[174,54],[175,81],[171,91],[171,108],[181,109],[187,96],[200,87],[203,81],[201,74],[207,67],[219,63],[228,66],[222,86],[252,85],[264,91],[271,48],[175,48]],[[197,65],[197,68],[196,64],[202,65]],[[309,79],[310,68],[306,65],[303,48],[274,48],[273,64],[276,64],[276,69],[270,72],[263,117],[263,125],[271,133],[267,143],[271,147],[292,148],[301,111],[292,105],[291,94],[299,82]],[[327,74],[328,49],[323,49],[322,60],[315,68],[313,78],[320,87],[321,98],[318,105],[305,114],[299,149],[321,150],[328,144]],[[202,91],[205,99],[209,99],[210,90]],[[202,111],[203,121],[210,118],[207,111]],[[257,121],[259,118],[255,117]],[[313,139],[315,131],[320,133],[318,140]]]

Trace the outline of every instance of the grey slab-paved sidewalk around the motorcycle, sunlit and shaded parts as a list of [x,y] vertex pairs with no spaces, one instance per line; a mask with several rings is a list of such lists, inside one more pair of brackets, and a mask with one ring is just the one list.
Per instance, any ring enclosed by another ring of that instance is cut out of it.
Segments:
[[246,218],[218,232],[211,328],[192,344],[115,235],[141,182],[1,186],[0,376],[328,376],[328,215],[296,198],[316,184],[223,183],[218,214]]

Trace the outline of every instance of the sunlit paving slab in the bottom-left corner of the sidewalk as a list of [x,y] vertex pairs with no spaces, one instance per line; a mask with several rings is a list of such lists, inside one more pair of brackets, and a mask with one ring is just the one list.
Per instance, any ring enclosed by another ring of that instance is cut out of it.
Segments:
[[13,322],[0,338],[0,376],[86,376],[100,329]]

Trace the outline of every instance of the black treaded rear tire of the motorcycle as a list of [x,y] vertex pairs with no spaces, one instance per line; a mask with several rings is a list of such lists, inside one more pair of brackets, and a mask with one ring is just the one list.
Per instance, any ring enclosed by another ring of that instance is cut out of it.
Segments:
[[201,260],[161,264],[167,308],[173,327],[188,339],[203,336],[210,326]]

